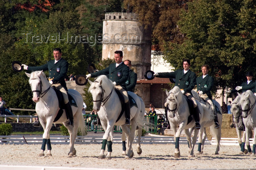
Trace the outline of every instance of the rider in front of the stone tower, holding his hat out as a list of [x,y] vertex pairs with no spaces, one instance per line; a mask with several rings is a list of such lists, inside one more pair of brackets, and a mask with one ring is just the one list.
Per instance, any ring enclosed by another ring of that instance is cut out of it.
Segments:
[[130,103],[128,98],[128,93],[125,88],[125,82],[129,76],[129,67],[122,62],[123,51],[115,51],[114,58],[116,63],[112,63],[109,67],[86,75],[86,79],[90,77],[97,77],[100,75],[108,75],[108,78],[112,80],[113,84],[124,96],[124,107],[125,107],[125,125],[130,124]]

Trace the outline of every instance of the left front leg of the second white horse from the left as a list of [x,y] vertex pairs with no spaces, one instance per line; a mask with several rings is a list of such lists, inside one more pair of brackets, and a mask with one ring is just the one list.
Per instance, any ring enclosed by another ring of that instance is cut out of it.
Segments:
[[[110,131],[113,130],[113,126],[114,126],[114,123],[113,122],[109,122],[107,125],[105,123],[102,122],[102,126],[103,126],[103,129],[105,130],[105,133],[103,135],[103,141],[102,141],[102,146],[101,146],[101,152],[99,153],[99,156],[98,158],[99,159],[104,159],[105,158],[105,150],[106,150],[106,145],[107,145],[107,142],[108,142],[108,139],[109,139],[109,134],[110,134]],[[109,139],[109,144],[110,143],[110,139]],[[112,145],[111,145],[112,146]]]

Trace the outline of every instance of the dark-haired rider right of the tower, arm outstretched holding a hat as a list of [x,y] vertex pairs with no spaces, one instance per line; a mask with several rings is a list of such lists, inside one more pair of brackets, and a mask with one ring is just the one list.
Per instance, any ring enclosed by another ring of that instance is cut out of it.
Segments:
[[[191,94],[191,90],[196,85],[196,74],[189,70],[190,67],[190,60],[184,59],[183,60],[183,68],[184,70],[175,70],[174,72],[161,72],[155,73],[154,76],[158,76],[159,78],[174,78],[175,79],[175,86],[178,86],[182,92],[182,94],[187,95],[193,101],[193,115],[195,118],[195,129],[200,129],[200,116],[199,110],[197,107],[197,103],[195,98]],[[166,116],[167,118],[167,116]]]

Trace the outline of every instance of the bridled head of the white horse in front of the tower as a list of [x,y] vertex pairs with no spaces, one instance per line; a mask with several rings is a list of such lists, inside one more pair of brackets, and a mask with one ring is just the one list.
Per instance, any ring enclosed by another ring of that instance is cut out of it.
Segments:
[[88,91],[93,96],[93,110],[99,111],[102,102],[105,102],[114,88],[114,84],[105,75],[100,75],[94,82],[89,80],[91,86]]

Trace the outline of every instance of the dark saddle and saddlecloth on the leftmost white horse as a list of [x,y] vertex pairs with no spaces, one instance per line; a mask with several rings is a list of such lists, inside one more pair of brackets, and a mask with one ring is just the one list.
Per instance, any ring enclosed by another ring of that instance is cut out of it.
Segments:
[[[63,114],[63,109],[65,109],[65,103],[64,103],[64,98],[63,98],[63,95],[62,95],[61,91],[59,89],[57,89],[56,87],[54,87],[54,86],[52,86],[52,88],[54,89],[54,91],[57,95],[58,102],[59,102],[59,107],[60,107],[60,110],[59,110],[57,116],[53,120],[53,122],[56,122],[57,120],[60,119],[61,115]],[[71,106],[78,107],[76,102],[75,102],[75,99],[69,93],[68,93],[68,100],[69,100],[69,103],[70,103]]]

